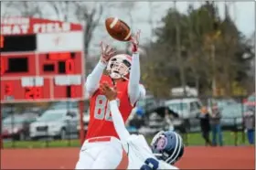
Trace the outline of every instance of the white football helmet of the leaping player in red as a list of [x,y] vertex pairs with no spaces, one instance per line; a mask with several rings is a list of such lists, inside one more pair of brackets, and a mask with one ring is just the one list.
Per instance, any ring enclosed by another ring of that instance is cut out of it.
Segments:
[[107,66],[107,71],[112,79],[128,80],[132,65],[132,57],[127,54],[119,54],[112,57]]

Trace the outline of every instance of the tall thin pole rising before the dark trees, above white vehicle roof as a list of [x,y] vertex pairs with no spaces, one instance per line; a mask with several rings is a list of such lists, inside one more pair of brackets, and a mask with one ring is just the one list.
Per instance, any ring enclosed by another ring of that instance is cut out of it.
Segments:
[[[174,1],[174,7],[176,10],[176,1]],[[178,68],[180,73],[180,81],[182,88],[184,90],[184,95],[187,96],[187,90],[186,90],[186,79],[185,79],[185,70],[184,70],[184,64],[182,63],[181,58],[181,47],[180,47],[180,29],[179,29],[179,21],[177,18],[177,10],[176,10],[176,56],[178,59]]]

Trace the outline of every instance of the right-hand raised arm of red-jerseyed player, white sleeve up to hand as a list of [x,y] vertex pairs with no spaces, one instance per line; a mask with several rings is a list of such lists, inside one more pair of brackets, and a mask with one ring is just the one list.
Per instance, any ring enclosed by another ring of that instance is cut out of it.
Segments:
[[140,78],[141,78],[141,70],[140,70],[140,56],[138,52],[138,45],[139,45],[139,37],[140,31],[136,34],[135,37],[132,37],[132,44],[133,44],[133,57],[132,57],[132,66],[130,72],[130,80],[128,84],[128,94],[129,99],[132,104],[138,101],[140,98],[144,98],[145,90],[144,86],[140,85]]

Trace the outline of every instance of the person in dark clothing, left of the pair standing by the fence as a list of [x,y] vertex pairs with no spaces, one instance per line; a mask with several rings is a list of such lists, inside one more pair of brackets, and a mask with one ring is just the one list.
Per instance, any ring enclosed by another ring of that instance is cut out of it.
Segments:
[[206,107],[203,107],[201,109],[201,112],[199,114],[200,119],[200,126],[202,131],[202,136],[206,142],[206,145],[212,145],[209,139],[209,132],[210,132],[210,123],[209,123],[209,113],[208,109]]

